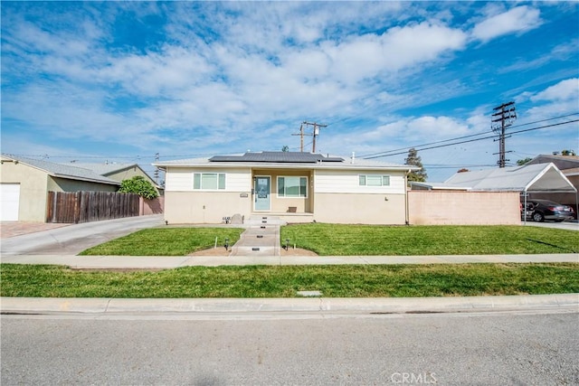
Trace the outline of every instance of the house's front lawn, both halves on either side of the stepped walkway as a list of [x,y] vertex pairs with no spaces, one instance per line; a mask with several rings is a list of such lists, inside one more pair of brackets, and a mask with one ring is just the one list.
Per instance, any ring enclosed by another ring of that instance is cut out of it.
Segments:
[[[239,240],[239,228],[153,228],[111,240],[81,255],[185,256]],[[309,223],[281,227],[281,244],[321,256],[576,253],[574,231],[522,226],[377,226]]]

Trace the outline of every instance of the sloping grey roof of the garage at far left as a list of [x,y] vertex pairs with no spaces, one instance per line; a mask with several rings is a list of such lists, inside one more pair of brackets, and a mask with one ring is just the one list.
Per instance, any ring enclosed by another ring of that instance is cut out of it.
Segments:
[[78,166],[56,164],[46,160],[32,159],[14,155],[2,155],[4,161],[9,160],[14,163],[22,163],[24,165],[32,166],[36,169],[43,170],[53,177],[66,178],[69,180],[89,181],[92,183],[119,185],[120,183],[110,178],[104,177],[100,174]]

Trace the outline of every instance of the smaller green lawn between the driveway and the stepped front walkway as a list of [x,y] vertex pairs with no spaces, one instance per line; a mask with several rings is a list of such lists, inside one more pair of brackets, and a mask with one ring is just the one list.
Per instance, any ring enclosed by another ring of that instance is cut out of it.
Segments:
[[239,240],[241,228],[152,228],[110,240],[82,251],[81,255],[185,256],[201,249],[229,245]]

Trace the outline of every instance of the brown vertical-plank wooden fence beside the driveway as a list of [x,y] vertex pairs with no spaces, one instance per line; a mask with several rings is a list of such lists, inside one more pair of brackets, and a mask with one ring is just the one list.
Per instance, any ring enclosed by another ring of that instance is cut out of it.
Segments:
[[49,192],[46,222],[79,223],[138,216],[138,194]]

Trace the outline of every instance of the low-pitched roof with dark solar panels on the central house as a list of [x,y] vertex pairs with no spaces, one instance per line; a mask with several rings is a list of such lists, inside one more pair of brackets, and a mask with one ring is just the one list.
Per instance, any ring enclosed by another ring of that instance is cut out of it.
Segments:
[[295,168],[295,169],[391,169],[418,170],[412,165],[400,165],[366,160],[361,158],[344,158],[335,155],[320,155],[305,152],[259,152],[243,155],[214,155],[210,158],[191,158],[174,161],[163,161],[153,164],[158,167],[262,167],[262,168]]

